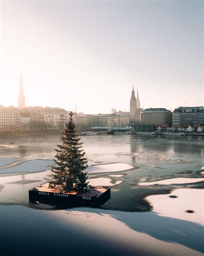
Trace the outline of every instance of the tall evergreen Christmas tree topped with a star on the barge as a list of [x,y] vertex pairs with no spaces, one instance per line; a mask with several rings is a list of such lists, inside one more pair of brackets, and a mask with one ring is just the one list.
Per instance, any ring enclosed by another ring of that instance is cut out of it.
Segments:
[[70,112],[69,121],[62,131],[62,145],[57,145],[57,154],[55,156],[55,165],[52,168],[52,185],[62,188],[67,191],[81,191],[86,187],[87,173],[87,158],[84,157],[85,152],[82,148],[82,143],[76,131],[76,126],[73,121],[74,114]]

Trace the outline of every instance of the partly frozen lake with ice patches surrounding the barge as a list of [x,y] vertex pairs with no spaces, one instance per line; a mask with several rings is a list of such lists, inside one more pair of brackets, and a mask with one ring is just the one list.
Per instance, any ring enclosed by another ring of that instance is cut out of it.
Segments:
[[[203,137],[83,136],[90,184],[110,186],[111,198],[100,208],[56,210],[29,203],[28,189],[51,179],[50,166],[54,163],[59,138],[60,134],[0,137],[0,207],[4,220],[2,229],[6,230],[4,238],[12,233],[6,228],[12,218],[13,235],[19,234],[19,239],[26,241],[25,248],[31,243],[44,250],[43,234],[52,240],[49,230],[52,227],[61,230],[63,235],[67,230],[73,232],[80,237],[81,248],[85,250],[88,245],[83,232],[90,244],[95,236],[95,249],[100,245],[98,237],[102,237],[105,246],[100,247],[99,255],[164,255],[164,252],[168,255],[166,248],[169,248],[169,255],[197,256],[204,252],[201,236]],[[41,224],[46,230],[39,234]],[[75,230],[74,225],[77,225]],[[21,228],[25,228],[27,236]],[[6,251],[5,239],[3,252]],[[45,241],[47,246],[49,240]],[[52,241],[53,246],[64,243],[58,238]],[[66,241],[66,244],[73,243],[73,239]],[[9,249],[10,255],[15,254],[15,249]],[[21,250],[19,255],[26,255]],[[57,253],[55,249],[48,250],[47,254],[43,252],[43,255]]]

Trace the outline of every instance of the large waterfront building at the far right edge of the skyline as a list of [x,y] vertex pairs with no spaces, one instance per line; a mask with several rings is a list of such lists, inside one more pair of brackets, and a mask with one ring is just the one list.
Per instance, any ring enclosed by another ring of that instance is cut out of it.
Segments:
[[204,126],[204,108],[199,107],[179,107],[173,111],[173,126],[201,125]]

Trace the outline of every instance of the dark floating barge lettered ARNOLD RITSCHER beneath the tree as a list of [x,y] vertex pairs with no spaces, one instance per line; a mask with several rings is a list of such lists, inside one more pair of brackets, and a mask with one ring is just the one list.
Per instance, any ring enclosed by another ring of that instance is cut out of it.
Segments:
[[111,197],[111,189],[105,186],[90,186],[86,192],[62,191],[50,187],[49,182],[29,190],[30,202],[47,202],[54,205],[101,205]]

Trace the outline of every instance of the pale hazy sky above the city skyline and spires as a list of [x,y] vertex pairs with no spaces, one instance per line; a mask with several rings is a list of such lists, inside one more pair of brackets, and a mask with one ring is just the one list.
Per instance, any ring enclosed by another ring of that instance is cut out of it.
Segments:
[[[203,1],[1,1],[0,104],[78,112],[201,106]],[[198,102],[198,104],[197,104]]]

